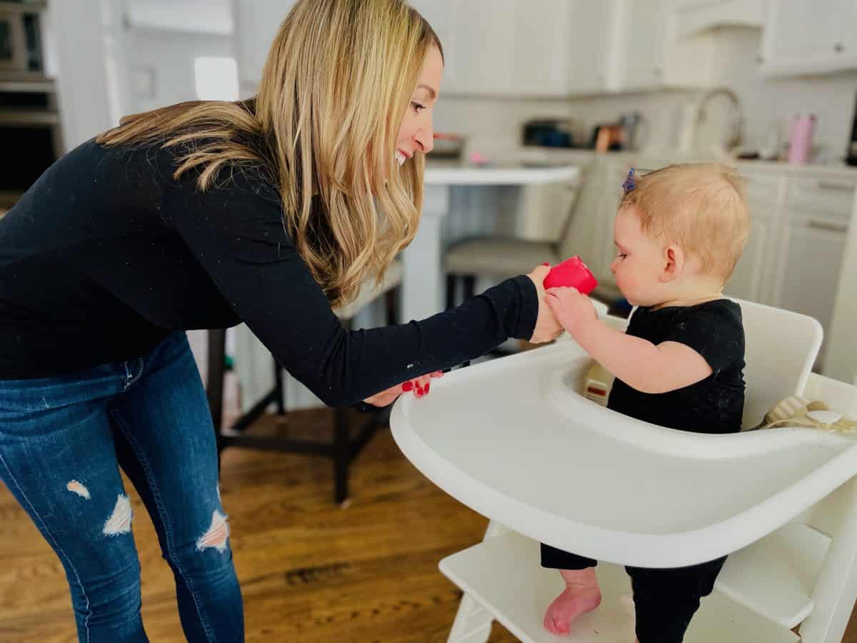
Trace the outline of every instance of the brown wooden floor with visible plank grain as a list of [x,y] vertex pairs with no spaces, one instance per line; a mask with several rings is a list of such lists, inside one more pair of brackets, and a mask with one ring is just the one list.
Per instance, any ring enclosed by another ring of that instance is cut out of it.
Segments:
[[[265,420],[255,430],[305,436],[327,412]],[[348,508],[333,505],[329,460],[238,449],[224,454],[221,494],[249,641],[444,641],[459,592],[440,558],[475,544],[486,520],[429,483],[381,430],[353,467]],[[126,488],[132,490],[126,480]],[[183,641],[175,589],[145,509],[135,508],[143,620],[150,640]],[[0,643],[74,641],[63,568],[0,484]],[[491,643],[514,641],[494,624]],[[845,637],[857,643],[857,620]],[[628,641],[630,643],[630,641]]]

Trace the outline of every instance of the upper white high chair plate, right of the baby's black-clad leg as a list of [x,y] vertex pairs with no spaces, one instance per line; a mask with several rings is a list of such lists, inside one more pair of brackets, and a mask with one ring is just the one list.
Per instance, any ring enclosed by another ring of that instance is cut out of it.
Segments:
[[806,525],[782,527],[730,555],[716,588],[783,628],[812,613],[810,593],[830,538]]

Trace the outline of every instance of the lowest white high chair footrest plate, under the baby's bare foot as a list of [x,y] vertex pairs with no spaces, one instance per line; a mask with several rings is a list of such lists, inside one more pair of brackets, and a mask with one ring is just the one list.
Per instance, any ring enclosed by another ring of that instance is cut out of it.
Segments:
[[[524,643],[634,640],[631,585],[624,568],[599,564],[601,606],[580,616],[567,637],[548,634],[542,618],[563,588],[560,574],[539,564],[539,545],[510,532],[440,561],[440,571]],[[796,643],[800,637],[714,592],[704,598],[685,643]]]

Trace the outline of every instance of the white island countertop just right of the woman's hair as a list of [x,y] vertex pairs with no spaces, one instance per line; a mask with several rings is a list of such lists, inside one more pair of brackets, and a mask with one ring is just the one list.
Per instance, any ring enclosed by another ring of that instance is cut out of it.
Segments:
[[426,163],[427,185],[524,185],[572,181],[578,165],[471,165],[458,161]]

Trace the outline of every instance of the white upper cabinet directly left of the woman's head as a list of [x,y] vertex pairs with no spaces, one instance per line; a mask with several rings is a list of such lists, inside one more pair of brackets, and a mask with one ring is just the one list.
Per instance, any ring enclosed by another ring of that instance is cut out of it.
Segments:
[[238,78],[259,84],[268,49],[297,0],[233,0]]

